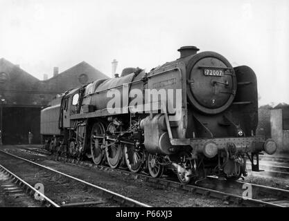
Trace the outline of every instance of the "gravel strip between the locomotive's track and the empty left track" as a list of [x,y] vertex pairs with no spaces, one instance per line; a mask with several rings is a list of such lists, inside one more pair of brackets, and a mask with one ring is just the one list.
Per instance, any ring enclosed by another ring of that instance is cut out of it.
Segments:
[[6,146],[6,150],[151,206],[236,206],[186,191],[159,189],[140,178],[123,175],[116,171],[103,171],[55,162],[47,160],[45,155],[33,155],[33,153],[27,153],[23,149],[13,146]]

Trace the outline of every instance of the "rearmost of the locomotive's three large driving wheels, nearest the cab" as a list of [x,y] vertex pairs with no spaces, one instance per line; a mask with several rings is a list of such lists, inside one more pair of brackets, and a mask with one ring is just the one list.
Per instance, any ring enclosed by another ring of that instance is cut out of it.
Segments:
[[102,145],[104,145],[105,127],[101,122],[97,122],[91,129],[90,136],[90,150],[92,160],[96,165],[103,162],[104,151]]

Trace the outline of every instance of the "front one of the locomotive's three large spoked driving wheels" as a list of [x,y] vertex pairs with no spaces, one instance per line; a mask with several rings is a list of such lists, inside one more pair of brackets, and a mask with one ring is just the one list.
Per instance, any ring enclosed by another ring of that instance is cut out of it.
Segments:
[[143,168],[144,153],[132,145],[125,144],[124,147],[125,162],[132,173],[139,173]]

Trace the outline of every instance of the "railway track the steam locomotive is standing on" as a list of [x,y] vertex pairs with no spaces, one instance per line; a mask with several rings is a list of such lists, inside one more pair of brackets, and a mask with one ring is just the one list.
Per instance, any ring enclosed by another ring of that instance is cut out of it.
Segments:
[[[250,184],[246,182],[225,182],[213,177],[198,184],[182,185],[178,181],[172,180],[170,177],[153,178],[144,173],[131,173],[125,169],[110,169],[109,166],[98,166],[90,162],[78,161],[68,157],[55,156],[54,160],[78,166],[93,167],[100,170],[116,171],[123,175],[141,178],[145,182],[150,182],[163,189],[169,190],[183,190],[190,193],[205,195],[211,198],[218,198],[225,202],[225,204],[234,203],[239,206],[289,206],[289,191],[284,189],[272,188],[269,186],[262,186],[258,184]],[[251,194],[244,192],[248,189]]]

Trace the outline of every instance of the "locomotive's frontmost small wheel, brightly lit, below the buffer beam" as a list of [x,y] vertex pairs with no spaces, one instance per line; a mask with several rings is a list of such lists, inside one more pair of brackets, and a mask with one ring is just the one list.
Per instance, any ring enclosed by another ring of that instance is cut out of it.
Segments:
[[181,159],[181,162],[177,165],[177,178],[183,184],[189,184],[193,173],[191,160],[186,160],[188,157],[189,155],[185,153]]

